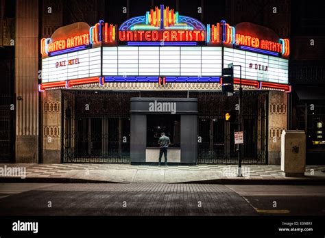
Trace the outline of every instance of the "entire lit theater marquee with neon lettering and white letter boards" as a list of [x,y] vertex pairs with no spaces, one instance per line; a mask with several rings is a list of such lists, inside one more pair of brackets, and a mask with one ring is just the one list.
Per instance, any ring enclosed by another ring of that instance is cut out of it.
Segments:
[[289,39],[252,23],[203,25],[160,5],[119,27],[101,20],[57,31],[40,41],[42,82],[48,85],[40,90],[159,77],[166,83],[219,82],[222,64],[236,63],[246,85],[289,91]]

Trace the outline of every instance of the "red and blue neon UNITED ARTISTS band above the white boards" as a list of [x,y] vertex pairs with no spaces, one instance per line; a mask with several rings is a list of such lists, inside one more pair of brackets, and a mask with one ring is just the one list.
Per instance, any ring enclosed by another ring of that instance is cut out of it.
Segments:
[[244,51],[285,57],[290,52],[289,39],[278,39],[276,42],[276,38],[265,40],[263,36],[257,34],[256,37],[256,33],[250,31],[241,34],[236,32],[236,27],[232,27],[226,21],[203,25],[195,18],[179,15],[164,5],[147,11],[144,16],[128,19],[119,26],[119,29],[117,25],[99,21],[86,31],[88,32],[83,31],[76,36],[54,41],[51,38],[43,38],[40,41],[40,53],[44,56],[53,56],[88,49],[97,43],[111,46],[225,45],[239,47]]

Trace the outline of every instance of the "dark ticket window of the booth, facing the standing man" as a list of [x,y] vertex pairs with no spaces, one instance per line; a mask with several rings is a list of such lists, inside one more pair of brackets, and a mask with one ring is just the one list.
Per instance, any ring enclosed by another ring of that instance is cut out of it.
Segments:
[[164,132],[170,139],[171,148],[180,148],[180,115],[147,115],[147,147],[159,147],[160,134]]

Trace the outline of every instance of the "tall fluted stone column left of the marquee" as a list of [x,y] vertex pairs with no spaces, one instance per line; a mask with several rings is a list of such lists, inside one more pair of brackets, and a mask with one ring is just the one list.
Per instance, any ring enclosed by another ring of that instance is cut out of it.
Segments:
[[16,1],[16,163],[38,163],[38,0]]

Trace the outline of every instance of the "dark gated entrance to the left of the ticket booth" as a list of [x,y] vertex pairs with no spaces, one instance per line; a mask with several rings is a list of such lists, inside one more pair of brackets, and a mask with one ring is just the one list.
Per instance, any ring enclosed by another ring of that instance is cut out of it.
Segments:
[[130,163],[130,109],[119,96],[130,95],[62,91],[63,162]]

